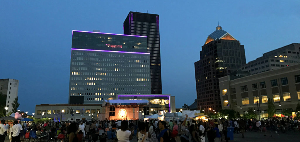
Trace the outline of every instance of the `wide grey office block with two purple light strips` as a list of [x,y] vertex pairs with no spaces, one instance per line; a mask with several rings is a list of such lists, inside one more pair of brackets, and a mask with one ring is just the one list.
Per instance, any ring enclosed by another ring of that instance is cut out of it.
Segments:
[[69,104],[150,94],[150,82],[147,37],[72,31]]

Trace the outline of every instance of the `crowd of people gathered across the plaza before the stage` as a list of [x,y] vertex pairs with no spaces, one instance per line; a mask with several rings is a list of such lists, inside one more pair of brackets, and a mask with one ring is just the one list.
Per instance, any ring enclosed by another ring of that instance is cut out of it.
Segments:
[[[227,128],[233,128],[234,133],[245,138],[246,131],[262,131],[263,136],[277,135],[289,131],[300,131],[300,122],[297,119],[204,119],[170,122],[151,120],[96,120],[80,122],[39,122],[28,123],[14,121],[11,125],[1,120],[0,142],[9,136],[10,142],[21,142],[26,139],[40,141],[65,142],[106,142],[107,139],[115,142],[129,142],[136,139],[138,142],[225,142]],[[272,131],[274,131],[272,133]]]

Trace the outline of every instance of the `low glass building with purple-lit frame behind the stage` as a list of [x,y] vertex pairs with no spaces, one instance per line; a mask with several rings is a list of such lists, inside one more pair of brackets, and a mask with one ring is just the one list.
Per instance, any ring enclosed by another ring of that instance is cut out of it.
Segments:
[[149,106],[140,107],[140,111],[145,115],[150,115],[151,112],[164,110],[164,112],[176,112],[175,96],[170,94],[117,94],[116,99],[121,100],[148,100]]

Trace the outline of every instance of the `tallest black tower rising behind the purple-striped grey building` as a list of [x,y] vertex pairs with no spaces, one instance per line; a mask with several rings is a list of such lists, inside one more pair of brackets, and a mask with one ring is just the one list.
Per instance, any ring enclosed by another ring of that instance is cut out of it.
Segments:
[[130,11],[123,28],[124,35],[147,36],[147,50],[150,53],[151,94],[162,94],[159,15]]

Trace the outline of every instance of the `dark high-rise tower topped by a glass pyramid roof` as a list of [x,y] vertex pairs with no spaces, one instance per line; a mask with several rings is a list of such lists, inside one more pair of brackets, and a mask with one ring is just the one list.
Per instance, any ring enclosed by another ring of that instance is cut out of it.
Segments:
[[198,109],[220,110],[218,78],[240,69],[243,64],[246,64],[244,45],[217,26],[202,46],[200,60],[195,62]]

